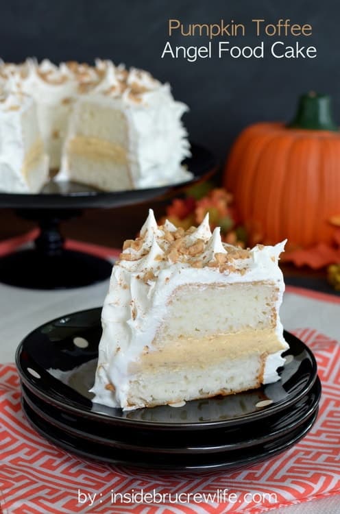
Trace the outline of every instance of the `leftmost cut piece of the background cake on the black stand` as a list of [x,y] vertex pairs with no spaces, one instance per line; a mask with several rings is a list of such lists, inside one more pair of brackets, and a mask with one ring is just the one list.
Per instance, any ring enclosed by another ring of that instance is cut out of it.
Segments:
[[48,175],[34,101],[0,89],[0,191],[38,193]]

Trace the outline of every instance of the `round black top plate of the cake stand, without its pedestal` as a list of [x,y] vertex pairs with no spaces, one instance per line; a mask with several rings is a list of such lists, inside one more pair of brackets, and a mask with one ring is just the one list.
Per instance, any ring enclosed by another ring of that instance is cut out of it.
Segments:
[[[73,182],[53,182],[51,180],[41,193],[18,194],[0,193],[1,208],[16,209],[82,209],[110,208],[172,194],[179,188],[209,178],[215,172],[217,162],[213,154],[206,148],[191,143],[191,157],[183,161],[193,178],[187,182],[168,184],[166,186],[135,189],[133,191],[103,192]],[[95,172],[95,170],[94,170]]]

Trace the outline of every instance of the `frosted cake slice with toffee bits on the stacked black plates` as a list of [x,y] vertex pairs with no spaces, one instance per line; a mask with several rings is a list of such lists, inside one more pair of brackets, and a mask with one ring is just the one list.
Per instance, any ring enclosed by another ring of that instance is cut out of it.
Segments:
[[276,382],[284,243],[241,249],[152,211],[125,241],[102,311],[94,402],[132,410]]

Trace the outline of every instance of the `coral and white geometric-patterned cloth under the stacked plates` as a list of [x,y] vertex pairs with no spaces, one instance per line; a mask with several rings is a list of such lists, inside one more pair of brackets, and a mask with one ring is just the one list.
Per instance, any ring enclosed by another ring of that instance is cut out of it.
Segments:
[[340,345],[311,329],[295,334],[317,358],[323,387],[317,422],[281,456],[233,473],[131,472],[60,450],[30,428],[15,367],[1,365],[3,513],[258,514],[339,493]]

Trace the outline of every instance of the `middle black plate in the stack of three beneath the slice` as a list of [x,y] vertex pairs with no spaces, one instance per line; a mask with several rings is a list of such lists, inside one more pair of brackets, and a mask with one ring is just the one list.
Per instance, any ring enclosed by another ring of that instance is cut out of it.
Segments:
[[21,384],[25,404],[47,424],[78,437],[121,450],[151,452],[160,454],[206,454],[230,452],[278,440],[306,421],[315,411],[321,395],[319,378],[311,391],[299,402],[276,415],[267,418],[266,423],[254,421],[250,427],[245,424],[237,428],[219,430],[184,430],[173,433],[167,430],[127,430],[112,427],[92,419],[84,419],[44,402]]

